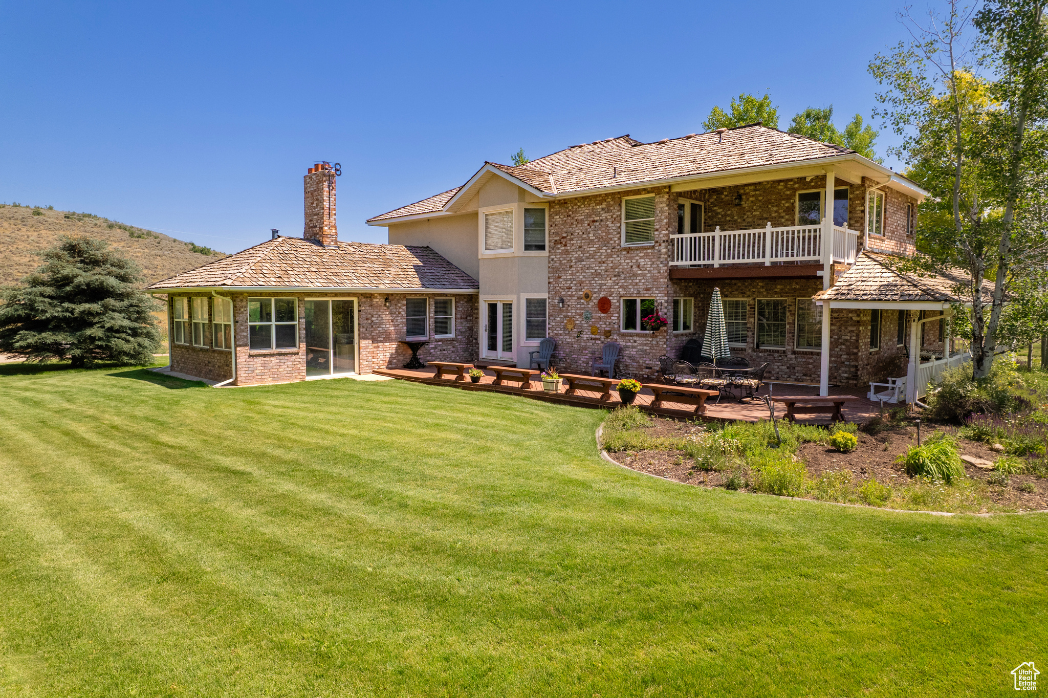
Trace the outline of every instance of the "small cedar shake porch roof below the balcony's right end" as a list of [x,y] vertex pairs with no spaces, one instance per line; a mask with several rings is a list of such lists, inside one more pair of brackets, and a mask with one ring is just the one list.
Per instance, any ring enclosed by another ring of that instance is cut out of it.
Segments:
[[[971,278],[960,269],[945,274],[918,276],[898,271],[894,266],[899,257],[881,253],[864,252],[850,269],[837,277],[836,282],[815,293],[815,300],[830,301],[919,301],[964,303],[957,286],[969,286]],[[983,293],[989,300],[994,284],[983,280]]]

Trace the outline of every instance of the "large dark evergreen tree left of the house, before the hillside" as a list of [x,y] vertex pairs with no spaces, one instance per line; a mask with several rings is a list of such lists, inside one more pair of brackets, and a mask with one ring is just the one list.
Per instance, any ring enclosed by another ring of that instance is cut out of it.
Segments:
[[160,334],[156,302],[138,283],[138,267],[101,240],[63,238],[39,255],[44,263],[3,289],[0,352],[29,361],[70,359],[144,365]]

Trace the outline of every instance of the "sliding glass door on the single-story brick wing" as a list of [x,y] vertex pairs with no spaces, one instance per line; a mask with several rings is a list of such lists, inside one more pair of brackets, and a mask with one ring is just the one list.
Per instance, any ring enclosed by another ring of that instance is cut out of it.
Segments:
[[306,301],[306,377],[356,372],[356,301]]

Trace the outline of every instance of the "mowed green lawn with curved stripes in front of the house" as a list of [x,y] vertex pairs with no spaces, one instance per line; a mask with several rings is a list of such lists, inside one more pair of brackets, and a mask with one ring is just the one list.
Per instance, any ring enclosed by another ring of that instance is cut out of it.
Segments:
[[992,696],[1048,671],[1045,516],[665,482],[599,459],[602,416],[0,367],[0,695]]

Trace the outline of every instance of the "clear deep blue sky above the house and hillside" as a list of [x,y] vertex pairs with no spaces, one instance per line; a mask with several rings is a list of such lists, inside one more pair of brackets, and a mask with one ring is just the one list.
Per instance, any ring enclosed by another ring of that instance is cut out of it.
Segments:
[[869,118],[900,5],[6,2],[0,201],[236,252],[302,234],[326,159],[340,238],[385,242],[366,218],[521,147],[700,132],[744,91],[782,129],[808,106]]

